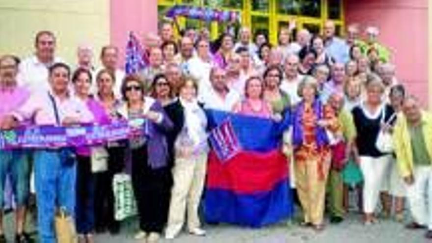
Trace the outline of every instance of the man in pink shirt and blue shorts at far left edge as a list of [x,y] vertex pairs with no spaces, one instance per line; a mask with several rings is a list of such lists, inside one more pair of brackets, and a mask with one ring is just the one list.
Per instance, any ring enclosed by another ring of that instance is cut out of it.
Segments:
[[[20,108],[30,95],[27,89],[17,86],[16,75],[19,62],[20,60],[12,55],[5,55],[0,58],[0,121],[6,114]],[[2,123],[0,123],[0,129],[3,129]],[[21,149],[0,150],[0,205],[2,209],[6,176],[9,175],[17,205],[15,242],[18,243],[29,241],[28,235],[24,232],[29,195],[29,172],[30,164],[27,151]],[[0,211],[0,243],[2,242],[6,242],[6,238],[3,231],[3,213]]]

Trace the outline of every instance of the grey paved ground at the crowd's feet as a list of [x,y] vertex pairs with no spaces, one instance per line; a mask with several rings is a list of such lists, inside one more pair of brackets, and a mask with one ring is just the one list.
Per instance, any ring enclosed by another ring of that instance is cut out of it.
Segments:
[[[6,234],[12,237],[12,215],[6,217]],[[294,220],[293,220],[294,221]],[[29,222],[31,229],[31,222]],[[241,228],[233,225],[205,225],[206,237],[190,236],[182,233],[174,241],[162,240],[161,243],[425,243],[424,231],[406,230],[401,223],[381,219],[378,224],[364,226],[360,216],[351,213],[339,225],[327,224],[323,232],[297,226],[297,223],[279,223],[262,229]],[[133,235],[136,220],[122,223],[118,236],[99,235],[97,243],[136,243]],[[143,242],[143,241],[141,241]],[[430,241],[432,243],[432,241]]]

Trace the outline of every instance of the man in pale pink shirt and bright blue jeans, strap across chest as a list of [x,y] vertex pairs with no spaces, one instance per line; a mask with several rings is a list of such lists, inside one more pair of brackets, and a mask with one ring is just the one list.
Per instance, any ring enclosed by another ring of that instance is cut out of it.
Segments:
[[[69,94],[70,68],[55,63],[49,69],[50,89],[32,95],[27,102],[2,119],[5,129],[26,119],[35,125],[76,125],[91,122],[93,116],[85,105]],[[62,148],[34,151],[34,176],[37,198],[39,241],[55,243],[54,213],[64,209],[70,216],[75,210],[76,163],[74,153]]]

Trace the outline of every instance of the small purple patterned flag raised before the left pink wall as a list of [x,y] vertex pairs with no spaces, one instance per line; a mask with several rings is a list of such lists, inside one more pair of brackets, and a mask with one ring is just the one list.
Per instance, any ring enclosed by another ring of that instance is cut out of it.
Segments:
[[129,33],[126,45],[125,72],[127,75],[139,73],[148,65],[148,56],[133,32]]

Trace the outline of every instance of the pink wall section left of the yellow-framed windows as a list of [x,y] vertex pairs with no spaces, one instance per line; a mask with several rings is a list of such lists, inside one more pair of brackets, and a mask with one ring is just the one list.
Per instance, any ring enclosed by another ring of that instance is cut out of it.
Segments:
[[143,39],[158,29],[158,0],[110,0],[110,41],[120,49],[124,67],[125,47],[129,31]]

